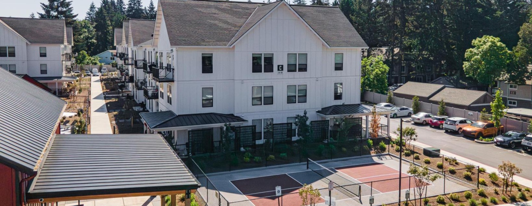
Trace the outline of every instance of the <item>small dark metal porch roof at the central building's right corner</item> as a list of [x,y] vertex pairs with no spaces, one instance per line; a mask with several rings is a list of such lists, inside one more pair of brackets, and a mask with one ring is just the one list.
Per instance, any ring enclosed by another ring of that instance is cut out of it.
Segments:
[[[321,108],[320,111],[317,111],[320,114],[323,115],[347,115],[347,114],[365,114],[365,113],[371,113],[373,110],[373,106],[365,105],[365,104],[338,104],[338,105],[332,105],[327,106],[326,108]],[[383,108],[375,108],[376,112],[379,113],[386,113],[390,112],[391,110],[383,109]]]

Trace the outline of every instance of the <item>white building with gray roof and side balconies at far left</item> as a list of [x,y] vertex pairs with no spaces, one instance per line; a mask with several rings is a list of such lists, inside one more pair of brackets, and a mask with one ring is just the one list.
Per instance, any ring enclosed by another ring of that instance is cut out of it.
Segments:
[[63,88],[75,80],[64,78],[75,55],[72,28],[64,20],[0,17],[0,33],[0,67],[37,80],[52,79],[41,83],[54,94],[66,93]]

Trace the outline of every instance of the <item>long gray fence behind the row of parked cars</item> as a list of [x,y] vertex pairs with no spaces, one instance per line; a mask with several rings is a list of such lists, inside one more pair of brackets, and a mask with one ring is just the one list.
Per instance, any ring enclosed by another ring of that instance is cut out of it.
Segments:
[[[367,102],[372,102],[375,104],[386,102],[388,96],[384,94],[378,94],[375,92],[364,92],[362,99]],[[408,106],[412,107],[412,100],[401,97],[393,97],[394,105],[396,106]],[[420,112],[427,112],[431,114],[438,113],[438,104],[419,102],[420,103]],[[478,121],[480,119],[480,112],[462,110],[458,108],[452,108],[449,106],[445,107],[445,112],[447,112],[448,117],[460,117],[469,119],[471,121]],[[528,122],[512,120],[508,118],[501,118],[501,124],[504,126],[505,131],[518,130],[518,131],[527,131]]]

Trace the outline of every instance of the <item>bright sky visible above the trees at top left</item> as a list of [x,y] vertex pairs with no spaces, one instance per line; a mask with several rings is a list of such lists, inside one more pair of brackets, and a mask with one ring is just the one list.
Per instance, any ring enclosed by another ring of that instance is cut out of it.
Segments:
[[[74,13],[78,14],[77,19],[85,19],[85,13],[89,9],[90,3],[93,0],[71,0]],[[252,0],[253,2],[262,2],[260,0]],[[38,17],[37,12],[43,12],[40,9],[40,3],[46,3],[47,0],[0,0],[0,16],[11,17],[29,17],[31,12],[34,12]],[[94,0],[94,4],[99,6],[100,0]],[[127,0],[124,0],[127,4]],[[157,0],[153,0],[157,6]],[[149,0],[142,0],[143,6],[149,5]]]

